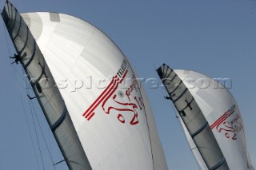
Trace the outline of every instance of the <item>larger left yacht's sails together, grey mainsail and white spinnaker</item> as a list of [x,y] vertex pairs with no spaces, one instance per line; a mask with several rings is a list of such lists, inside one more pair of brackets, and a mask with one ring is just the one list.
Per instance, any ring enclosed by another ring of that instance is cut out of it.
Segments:
[[70,169],[167,169],[146,94],[110,38],[10,2],[2,18]]

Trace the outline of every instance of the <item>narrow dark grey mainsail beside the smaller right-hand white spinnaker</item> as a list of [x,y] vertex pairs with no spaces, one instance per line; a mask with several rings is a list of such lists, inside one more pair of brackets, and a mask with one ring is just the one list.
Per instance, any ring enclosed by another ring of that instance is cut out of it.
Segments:
[[181,78],[165,64],[161,65],[157,72],[169,94],[166,98],[174,103],[206,167],[210,170],[229,169],[206,117]]

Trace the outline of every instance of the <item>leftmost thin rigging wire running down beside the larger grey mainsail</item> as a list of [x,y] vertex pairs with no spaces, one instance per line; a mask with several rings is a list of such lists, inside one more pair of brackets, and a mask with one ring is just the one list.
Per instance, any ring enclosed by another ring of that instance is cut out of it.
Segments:
[[[6,30],[6,27],[4,26],[4,23],[2,23],[2,26],[3,26],[3,29],[5,30],[6,45],[7,45],[8,53],[9,53],[9,55],[10,55],[10,46],[9,46],[9,42],[8,42],[8,39],[7,39],[7,36],[6,36],[7,30]],[[14,65],[12,65],[12,68],[14,69]],[[37,160],[38,169],[40,169],[40,166],[39,166],[39,163],[38,163],[38,156],[37,156],[37,154],[36,154],[36,152],[35,152],[34,142],[33,142],[33,139],[32,139],[32,133],[31,133],[31,131],[30,131],[30,125],[29,125],[29,122],[28,122],[28,117],[27,117],[27,115],[26,115],[26,109],[25,109],[25,106],[24,106],[24,102],[23,102],[23,100],[22,100],[21,90],[20,90],[20,88],[19,88],[19,86],[18,86],[18,78],[17,78],[17,74],[16,74],[16,72],[15,72],[15,69],[14,69],[14,77],[15,77],[16,85],[17,85],[17,87],[18,87],[19,97],[20,97],[20,100],[22,101],[23,114],[24,114],[25,117],[26,117],[26,126],[27,126],[27,128],[28,128],[28,130],[29,130],[30,140],[31,140],[31,142],[32,142],[33,149],[34,149],[34,155],[35,155],[36,160]]]

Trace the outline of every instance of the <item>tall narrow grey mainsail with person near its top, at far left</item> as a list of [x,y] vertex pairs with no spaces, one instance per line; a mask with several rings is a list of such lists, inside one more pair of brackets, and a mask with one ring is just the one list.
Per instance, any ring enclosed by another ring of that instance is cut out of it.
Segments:
[[2,10],[2,18],[18,53],[16,60],[26,72],[67,166],[70,169],[91,169],[42,52],[22,16],[9,1]]

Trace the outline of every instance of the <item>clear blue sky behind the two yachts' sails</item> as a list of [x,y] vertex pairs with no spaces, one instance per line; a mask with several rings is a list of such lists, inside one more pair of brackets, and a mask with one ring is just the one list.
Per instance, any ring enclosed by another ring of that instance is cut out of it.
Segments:
[[[210,77],[232,79],[233,87],[230,91],[242,113],[248,151],[256,168],[256,1],[11,0],[10,2],[13,2],[21,13],[60,12],[82,18],[97,26],[122,49],[139,77],[158,78],[154,65],[158,67],[165,62],[174,69],[192,69]],[[2,9],[3,0],[0,3]],[[1,23],[0,170],[54,169],[52,160],[57,163],[62,160],[62,154],[58,151],[36,101],[33,103],[37,112],[34,113],[32,107],[33,113],[30,113],[23,72],[20,65],[10,65],[9,51],[14,53],[14,47],[4,28]],[[162,89],[150,89],[147,85],[145,89],[154,111],[169,168],[199,169],[182,128],[174,116],[170,101],[163,98],[166,92]],[[26,112],[23,111],[22,101]],[[42,126],[44,137],[36,116]],[[38,137],[35,135],[34,127]],[[52,156],[52,160],[49,155]],[[67,169],[66,164],[58,164],[55,169]]]

